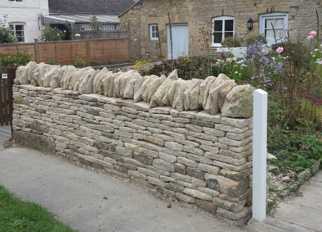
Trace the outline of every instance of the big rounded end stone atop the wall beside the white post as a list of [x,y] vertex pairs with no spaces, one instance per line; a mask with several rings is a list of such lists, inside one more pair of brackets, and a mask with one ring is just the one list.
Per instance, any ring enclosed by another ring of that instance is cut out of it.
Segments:
[[251,85],[235,86],[226,96],[221,113],[223,117],[251,118],[253,115],[253,91]]

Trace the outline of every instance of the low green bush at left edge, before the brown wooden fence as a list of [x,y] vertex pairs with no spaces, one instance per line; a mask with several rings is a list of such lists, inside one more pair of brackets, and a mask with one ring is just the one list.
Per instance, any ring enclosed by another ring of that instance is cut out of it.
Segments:
[[30,61],[31,55],[22,52],[0,55],[0,67],[26,66]]

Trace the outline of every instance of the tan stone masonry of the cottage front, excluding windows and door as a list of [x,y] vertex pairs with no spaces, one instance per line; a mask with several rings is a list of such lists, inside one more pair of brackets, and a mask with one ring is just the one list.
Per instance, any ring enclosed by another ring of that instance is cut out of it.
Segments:
[[[289,35],[295,39],[298,34],[307,36],[308,32],[317,29],[315,10],[321,15],[319,1],[215,1],[215,0],[142,0],[140,10],[130,9],[120,17],[121,22],[132,21],[132,59],[160,60],[167,57],[167,24],[168,12],[172,24],[187,23],[189,27],[189,55],[200,55],[204,52],[204,40],[201,31],[211,31],[212,18],[232,16],[235,18],[235,37],[243,42],[253,35],[258,35],[259,15],[273,12],[288,13]],[[247,20],[254,21],[251,31],[247,29]],[[159,24],[162,56],[159,42],[149,38],[149,24]]]

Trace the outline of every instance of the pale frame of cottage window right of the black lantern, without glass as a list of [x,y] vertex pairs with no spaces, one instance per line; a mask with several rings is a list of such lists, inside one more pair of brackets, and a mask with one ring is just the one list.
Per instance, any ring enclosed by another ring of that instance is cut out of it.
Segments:
[[[288,13],[283,13],[283,12],[273,12],[273,13],[267,13],[267,14],[262,14],[259,15],[259,35],[265,36],[265,20],[267,19],[284,19],[284,37],[283,38],[278,38],[279,35],[276,35],[276,41],[277,43],[281,43],[282,41],[285,41],[286,39],[286,30],[288,29]],[[275,39],[267,39],[267,44],[275,44]]]

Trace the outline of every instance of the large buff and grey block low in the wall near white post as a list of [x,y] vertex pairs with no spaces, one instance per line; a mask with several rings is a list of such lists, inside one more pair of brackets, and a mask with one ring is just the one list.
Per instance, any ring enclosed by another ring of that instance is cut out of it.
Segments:
[[244,193],[248,187],[247,178],[231,180],[220,175],[205,174],[207,186],[217,191],[223,192],[232,197],[237,197]]

